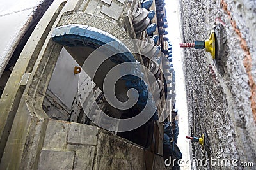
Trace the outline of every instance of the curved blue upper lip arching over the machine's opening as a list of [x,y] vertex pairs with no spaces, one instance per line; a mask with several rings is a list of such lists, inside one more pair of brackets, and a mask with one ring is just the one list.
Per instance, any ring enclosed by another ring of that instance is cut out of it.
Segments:
[[[100,29],[77,24],[57,27],[52,33],[52,40],[65,46],[90,46],[91,48],[97,48],[106,43],[118,41],[114,36],[106,34],[106,32]],[[129,51],[125,45],[120,45],[120,43],[111,43],[111,46],[117,51]],[[118,57],[120,57],[118,58],[120,62],[136,61],[132,53],[128,52],[120,53]]]

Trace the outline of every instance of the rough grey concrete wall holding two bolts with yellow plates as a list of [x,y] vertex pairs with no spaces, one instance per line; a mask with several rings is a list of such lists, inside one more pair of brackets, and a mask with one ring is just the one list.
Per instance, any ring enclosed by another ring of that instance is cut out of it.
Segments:
[[[186,48],[184,69],[192,136],[207,132],[209,150],[192,144],[193,159],[221,158],[253,162],[256,166],[255,82],[256,82],[256,1],[180,1],[184,42],[209,38],[214,25],[225,27],[224,72],[210,53]],[[227,59],[227,63],[225,63]],[[220,64],[219,64],[220,65]],[[198,169],[244,169],[211,166]]]

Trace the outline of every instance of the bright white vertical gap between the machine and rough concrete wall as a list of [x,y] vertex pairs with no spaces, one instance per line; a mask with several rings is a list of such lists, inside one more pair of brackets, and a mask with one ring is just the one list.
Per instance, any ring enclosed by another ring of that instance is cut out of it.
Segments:
[[[179,21],[179,0],[165,1],[168,24],[168,38],[172,43],[173,67],[175,69],[176,80],[176,108],[179,114],[179,137],[178,146],[182,152],[182,160],[191,160],[189,140],[185,138],[189,134],[188,130],[188,108],[185,90],[184,71],[182,66],[183,53],[179,47],[181,42],[181,31]],[[191,169],[189,166],[181,167],[181,169]]]

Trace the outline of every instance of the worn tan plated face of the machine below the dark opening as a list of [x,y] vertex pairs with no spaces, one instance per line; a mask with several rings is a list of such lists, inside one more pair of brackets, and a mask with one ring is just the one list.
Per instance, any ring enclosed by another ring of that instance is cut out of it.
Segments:
[[[163,169],[163,158],[154,169]],[[38,169],[146,169],[145,151],[91,125],[50,120]],[[62,163],[60,163],[62,162]]]

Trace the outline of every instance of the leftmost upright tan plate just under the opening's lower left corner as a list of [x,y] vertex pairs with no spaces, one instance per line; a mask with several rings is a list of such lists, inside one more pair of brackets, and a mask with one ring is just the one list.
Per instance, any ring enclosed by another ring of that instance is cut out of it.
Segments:
[[64,149],[66,146],[67,131],[69,124],[69,122],[49,120],[43,147]]

